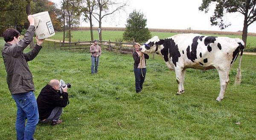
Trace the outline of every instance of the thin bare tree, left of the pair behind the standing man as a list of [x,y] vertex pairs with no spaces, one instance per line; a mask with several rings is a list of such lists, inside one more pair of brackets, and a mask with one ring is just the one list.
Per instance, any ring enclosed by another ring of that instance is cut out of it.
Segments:
[[84,12],[84,21],[89,20],[90,22],[90,35],[91,41],[93,41],[93,10],[96,8],[96,1],[95,0],[86,0],[86,7],[82,9]]

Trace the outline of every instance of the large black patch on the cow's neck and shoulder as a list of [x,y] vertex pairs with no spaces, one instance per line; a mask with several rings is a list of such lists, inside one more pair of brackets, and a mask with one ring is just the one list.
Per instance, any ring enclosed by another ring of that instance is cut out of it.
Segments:
[[164,39],[163,43],[163,49],[161,50],[161,54],[163,55],[163,58],[165,62],[168,62],[168,54],[170,55],[170,58],[172,57],[172,63],[177,66],[176,62],[178,62],[180,57],[180,52],[178,45],[174,42],[173,39]]

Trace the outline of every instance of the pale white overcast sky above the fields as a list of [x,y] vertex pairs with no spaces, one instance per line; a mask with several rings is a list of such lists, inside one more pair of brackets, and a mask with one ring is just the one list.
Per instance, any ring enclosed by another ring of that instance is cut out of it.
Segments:
[[[50,1],[60,6],[61,0]],[[209,21],[214,6],[205,14],[198,10],[201,3],[202,0],[128,0],[129,6],[125,11],[103,18],[102,27],[125,27],[129,14],[136,9],[145,15],[148,28],[187,29],[190,27],[192,30],[221,31],[218,26],[211,26]],[[243,30],[242,14],[227,14],[224,20],[231,25],[222,31]],[[80,26],[89,26],[89,24],[82,22]],[[96,20],[94,26],[98,27]],[[256,22],[248,27],[248,32],[256,33]]]

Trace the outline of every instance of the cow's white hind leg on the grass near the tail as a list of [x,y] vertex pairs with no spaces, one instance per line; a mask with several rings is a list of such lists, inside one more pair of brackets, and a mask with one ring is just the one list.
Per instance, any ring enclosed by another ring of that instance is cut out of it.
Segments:
[[216,98],[217,101],[221,101],[224,98],[225,90],[227,88],[227,84],[229,83],[229,69],[217,69],[219,78],[220,78],[220,84],[221,84],[221,90]]

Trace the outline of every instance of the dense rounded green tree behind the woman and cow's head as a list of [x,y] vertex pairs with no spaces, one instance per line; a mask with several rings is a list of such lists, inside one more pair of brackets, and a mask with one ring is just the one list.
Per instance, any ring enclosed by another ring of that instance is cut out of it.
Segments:
[[143,13],[134,10],[129,14],[125,25],[125,32],[123,33],[123,39],[132,42],[135,39],[136,42],[145,42],[151,38],[150,31],[145,28],[147,25],[147,19]]

